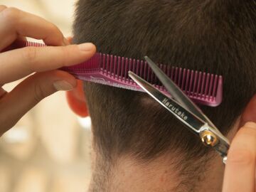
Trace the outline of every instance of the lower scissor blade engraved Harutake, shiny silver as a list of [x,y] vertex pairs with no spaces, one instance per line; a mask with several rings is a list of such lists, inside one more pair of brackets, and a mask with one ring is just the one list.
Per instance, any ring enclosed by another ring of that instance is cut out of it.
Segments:
[[137,84],[145,90],[151,97],[159,102],[166,110],[169,110],[174,116],[179,119],[183,124],[186,124],[187,127],[191,128],[193,132],[199,134],[200,129],[206,125],[206,122],[203,122],[202,119],[196,117],[193,113],[189,112],[181,105],[178,104],[175,100],[167,97],[162,92],[157,90],[149,82],[146,82],[144,79],[140,78],[138,75],[129,71],[129,77],[132,78]]

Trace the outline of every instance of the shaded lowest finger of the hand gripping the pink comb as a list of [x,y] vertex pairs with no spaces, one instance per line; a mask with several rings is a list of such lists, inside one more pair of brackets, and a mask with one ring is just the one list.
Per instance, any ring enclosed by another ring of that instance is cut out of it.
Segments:
[[37,73],[28,77],[0,100],[0,135],[14,126],[18,119],[39,101],[57,90],[72,90],[75,78],[60,70]]

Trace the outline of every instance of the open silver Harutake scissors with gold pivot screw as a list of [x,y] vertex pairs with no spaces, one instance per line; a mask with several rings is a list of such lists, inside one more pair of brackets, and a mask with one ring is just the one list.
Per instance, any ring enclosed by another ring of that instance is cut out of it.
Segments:
[[132,73],[132,71],[129,71],[129,77],[153,97],[156,102],[159,102],[166,110],[174,114],[188,129],[197,134],[203,144],[213,147],[223,158],[223,163],[226,164],[228,149],[230,147],[228,139],[223,136],[213,122],[206,117],[206,114],[183,93],[156,63],[147,56],[145,56],[145,60],[171,96],[164,95],[164,93],[157,90],[153,85],[135,73]]

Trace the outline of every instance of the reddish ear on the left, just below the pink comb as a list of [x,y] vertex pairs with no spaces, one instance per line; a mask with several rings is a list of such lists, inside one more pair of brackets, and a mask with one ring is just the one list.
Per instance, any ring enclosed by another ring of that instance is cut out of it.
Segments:
[[68,105],[75,114],[80,117],[89,116],[85,101],[85,92],[83,90],[82,80],[78,80],[78,86],[74,90],[66,93]]

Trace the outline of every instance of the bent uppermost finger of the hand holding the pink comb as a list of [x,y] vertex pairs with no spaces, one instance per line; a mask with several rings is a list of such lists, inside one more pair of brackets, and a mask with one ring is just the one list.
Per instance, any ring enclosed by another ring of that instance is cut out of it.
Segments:
[[16,8],[0,6],[0,51],[11,45],[17,36],[43,39],[51,46],[64,46],[68,42],[53,23]]

